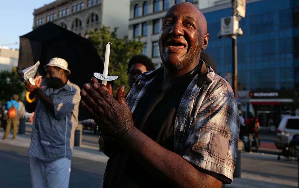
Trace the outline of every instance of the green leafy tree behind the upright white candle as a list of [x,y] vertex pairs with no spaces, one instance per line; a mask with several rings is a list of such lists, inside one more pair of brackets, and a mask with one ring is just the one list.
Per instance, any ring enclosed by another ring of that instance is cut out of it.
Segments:
[[[92,41],[97,49],[103,62],[105,61],[105,51],[108,42],[111,42],[109,58],[109,74],[117,75],[118,79],[114,80],[113,91],[115,92],[120,86],[128,86],[127,67],[129,60],[138,54],[141,54],[144,43],[141,42],[141,36],[137,39],[129,40],[128,36],[124,38],[117,37],[117,29],[110,32],[110,27],[103,26],[99,30],[91,30],[87,34],[88,39]],[[95,70],[95,72],[103,70]],[[127,91],[128,88],[126,87]]]

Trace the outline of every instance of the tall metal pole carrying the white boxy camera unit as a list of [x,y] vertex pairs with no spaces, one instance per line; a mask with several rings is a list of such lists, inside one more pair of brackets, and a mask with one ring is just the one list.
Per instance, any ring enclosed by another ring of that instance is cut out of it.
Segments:
[[[232,15],[236,16],[236,0],[232,0]],[[232,36],[232,73],[233,73],[233,85],[235,99],[238,101],[238,66],[237,66],[237,36]]]

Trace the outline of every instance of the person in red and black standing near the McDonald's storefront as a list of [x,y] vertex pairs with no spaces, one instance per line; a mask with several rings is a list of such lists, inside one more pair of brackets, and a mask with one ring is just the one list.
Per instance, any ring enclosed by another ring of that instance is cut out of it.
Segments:
[[260,131],[260,123],[257,118],[254,117],[252,112],[249,112],[249,118],[246,120],[246,129],[248,133],[248,141],[249,141],[249,152],[252,152],[252,136],[255,141],[255,149],[259,150],[259,131]]

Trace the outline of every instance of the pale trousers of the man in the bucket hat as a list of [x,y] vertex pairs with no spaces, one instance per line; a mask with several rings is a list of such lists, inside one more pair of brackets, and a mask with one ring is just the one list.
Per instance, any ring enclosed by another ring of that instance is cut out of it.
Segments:
[[71,160],[68,158],[42,161],[30,156],[31,185],[33,188],[67,188],[70,173]]

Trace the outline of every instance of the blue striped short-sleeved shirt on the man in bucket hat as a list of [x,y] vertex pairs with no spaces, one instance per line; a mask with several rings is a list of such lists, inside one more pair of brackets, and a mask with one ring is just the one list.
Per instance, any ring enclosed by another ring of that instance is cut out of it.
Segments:
[[72,157],[74,133],[78,125],[80,88],[69,80],[60,89],[48,87],[45,79],[42,91],[53,99],[55,114],[37,100],[28,155],[43,161]]

